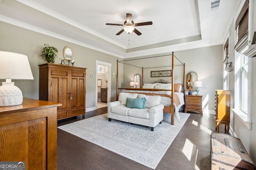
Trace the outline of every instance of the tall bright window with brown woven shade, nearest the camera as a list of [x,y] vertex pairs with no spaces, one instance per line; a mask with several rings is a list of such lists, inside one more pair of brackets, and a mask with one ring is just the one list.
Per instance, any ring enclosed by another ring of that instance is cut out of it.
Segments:
[[[244,55],[248,49],[248,14],[249,1],[246,0],[244,6],[236,19],[235,33],[237,43],[234,47],[236,53],[235,59],[235,88],[234,88],[234,113],[242,122],[251,129],[250,123],[250,80],[251,66],[248,62],[248,56]],[[249,69],[250,68],[250,69]]]

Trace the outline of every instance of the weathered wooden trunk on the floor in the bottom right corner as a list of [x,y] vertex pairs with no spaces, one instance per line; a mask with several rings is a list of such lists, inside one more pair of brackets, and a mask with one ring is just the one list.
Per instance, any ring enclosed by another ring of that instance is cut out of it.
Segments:
[[224,133],[211,134],[212,170],[255,170],[240,139]]

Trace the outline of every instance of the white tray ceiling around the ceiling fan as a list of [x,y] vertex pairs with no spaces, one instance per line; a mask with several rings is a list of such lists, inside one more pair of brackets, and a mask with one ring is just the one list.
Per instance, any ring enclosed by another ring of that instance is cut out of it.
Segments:
[[[241,0],[0,0],[0,21],[121,58],[223,44]],[[123,32],[126,13],[142,33]],[[129,41],[130,39],[130,41]],[[130,44],[130,45],[129,45]],[[54,45],[53,45],[54,46]]]

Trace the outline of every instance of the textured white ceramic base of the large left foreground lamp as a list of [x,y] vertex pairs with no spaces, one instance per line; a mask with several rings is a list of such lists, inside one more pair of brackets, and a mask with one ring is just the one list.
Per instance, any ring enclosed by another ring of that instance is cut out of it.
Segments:
[[14,86],[14,82],[2,82],[2,84],[0,86],[0,107],[22,104],[22,92],[17,86]]

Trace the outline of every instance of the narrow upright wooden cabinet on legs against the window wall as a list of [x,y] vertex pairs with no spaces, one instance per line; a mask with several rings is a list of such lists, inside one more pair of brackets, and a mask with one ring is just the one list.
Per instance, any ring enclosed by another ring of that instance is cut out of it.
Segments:
[[217,133],[219,132],[220,124],[225,124],[225,132],[229,134],[230,97],[230,90],[215,90],[215,121]]

